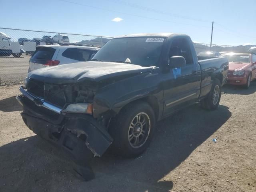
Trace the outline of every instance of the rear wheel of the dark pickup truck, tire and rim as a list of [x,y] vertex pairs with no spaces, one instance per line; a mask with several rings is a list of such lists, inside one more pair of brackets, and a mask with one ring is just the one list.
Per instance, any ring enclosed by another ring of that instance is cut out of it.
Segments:
[[201,106],[206,110],[216,110],[220,103],[221,84],[220,80],[215,79],[212,84],[212,89],[206,98],[201,100]]

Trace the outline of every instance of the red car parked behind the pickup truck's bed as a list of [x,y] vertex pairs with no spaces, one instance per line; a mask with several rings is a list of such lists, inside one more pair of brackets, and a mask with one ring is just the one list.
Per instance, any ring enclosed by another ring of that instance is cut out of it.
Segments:
[[222,54],[229,60],[227,84],[250,87],[250,82],[256,78],[256,54],[228,53]]

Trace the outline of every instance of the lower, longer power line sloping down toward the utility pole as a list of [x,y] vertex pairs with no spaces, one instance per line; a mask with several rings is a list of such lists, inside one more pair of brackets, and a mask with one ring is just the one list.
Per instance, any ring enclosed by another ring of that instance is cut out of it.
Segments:
[[76,3],[76,2],[71,2],[71,1],[67,1],[67,0],[58,0],[58,1],[67,2],[67,3],[71,3],[71,4],[76,4],[76,5],[80,5],[80,6],[86,6],[86,7],[90,7],[90,8],[94,8],[94,9],[99,9],[99,10],[105,10],[105,11],[109,11],[109,12],[116,12],[116,13],[120,13],[120,14],[136,16],[136,17],[145,18],[145,19],[156,20],[156,21],[176,23],[176,24],[182,24],[182,25],[190,25],[190,26],[196,26],[196,27],[206,27],[206,28],[208,27],[208,26],[186,24],[186,23],[174,22],[174,21],[169,21],[169,20],[162,20],[162,19],[156,19],[156,18],[151,18],[151,17],[146,17],[146,16],[140,16],[140,15],[135,15],[135,14],[130,14],[130,13],[124,13],[124,12],[119,12],[119,11],[115,11],[115,10],[109,10],[109,9],[105,9],[105,8],[99,8],[99,7],[95,7],[95,6],[80,4],[80,3]]

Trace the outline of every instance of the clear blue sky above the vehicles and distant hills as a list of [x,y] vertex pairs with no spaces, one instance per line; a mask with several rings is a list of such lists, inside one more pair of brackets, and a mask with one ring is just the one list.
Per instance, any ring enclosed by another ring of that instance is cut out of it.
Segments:
[[0,0],[0,4],[6,4],[0,27],[102,36],[176,32],[190,35],[194,42],[210,43],[214,21],[213,44],[256,44],[256,0]]

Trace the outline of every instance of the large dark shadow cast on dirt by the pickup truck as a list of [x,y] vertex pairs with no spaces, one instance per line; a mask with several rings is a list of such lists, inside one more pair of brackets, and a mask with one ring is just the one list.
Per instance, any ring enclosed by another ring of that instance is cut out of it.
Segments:
[[[138,158],[125,159],[107,151],[91,165],[96,179],[82,182],[71,163],[38,136],[0,147],[0,191],[146,191],[171,190],[174,178],[164,178],[203,142],[212,142],[231,116],[226,106],[204,111],[190,106],[156,124],[150,147]],[[177,176],[178,177],[178,176]]]

